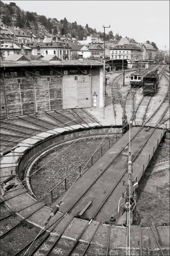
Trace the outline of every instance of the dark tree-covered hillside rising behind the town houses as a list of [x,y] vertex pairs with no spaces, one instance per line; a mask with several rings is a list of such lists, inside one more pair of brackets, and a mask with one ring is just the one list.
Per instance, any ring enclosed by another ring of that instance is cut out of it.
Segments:
[[[67,18],[63,20],[57,20],[57,18],[46,18],[44,15],[37,15],[36,12],[28,12],[21,10],[19,6],[14,2],[10,4],[4,4],[0,1],[0,15],[1,21],[8,26],[18,26],[20,28],[32,28],[38,29],[38,24],[42,24],[44,29],[54,36],[60,32],[60,35],[69,34],[77,40],[83,40],[87,36],[94,36],[99,38],[104,38],[104,32],[97,32],[94,28],[90,28],[88,24],[85,27],[78,25],[77,22],[68,22]],[[109,31],[108,34],[105,34],[106,40],[115,39],[120,40],[122,36],[119,36],[119,33],[113,35],[112,31]]]

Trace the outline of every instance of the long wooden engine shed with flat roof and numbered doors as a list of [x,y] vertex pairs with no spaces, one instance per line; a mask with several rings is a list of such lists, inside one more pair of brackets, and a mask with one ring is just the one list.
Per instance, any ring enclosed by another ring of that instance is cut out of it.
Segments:
[[101,62],[21,58],[2,60],[0,67],[1,119],[50,110],[103,108]]

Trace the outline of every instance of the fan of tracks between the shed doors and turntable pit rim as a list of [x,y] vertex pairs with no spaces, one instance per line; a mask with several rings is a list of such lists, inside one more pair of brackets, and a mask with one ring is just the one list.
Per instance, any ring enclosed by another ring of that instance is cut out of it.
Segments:
[[[85,124],[96,122],[96,118],[89,115],[86,110],[53,110],[43,113],[29,114],[10,118],[9,120],[1,120],[1,142],[0,151],[11,149],[24,138],[30,138],[35,135],[35,138],[42,138],[38,135],[40,132],[49,132],[49,134],[57,134],[48,130],[54,128],[67,127],[67,130],[72,130],[71,125]],[[23,144],[24,146],[24,144]]]

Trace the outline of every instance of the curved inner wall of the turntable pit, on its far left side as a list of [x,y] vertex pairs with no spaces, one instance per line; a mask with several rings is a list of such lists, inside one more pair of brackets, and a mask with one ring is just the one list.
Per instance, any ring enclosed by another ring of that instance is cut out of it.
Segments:
[[[79,128],[75,131],[68,131],[68,132],[62,132],[61,134],[57,135],[51,135],[49,138],[42,140],[41,142],[38,142],[37,144],[33,145],[31,148],[27,149],[23,156],[20,157],[20,161],[18,163],[17,172],[19,175],[20,180],[23,180],[24,177],[24,171],[30,160],[36,156],[36,154],[40,153],[42,150],[45,150],[49,146],[52,146],[53,144],[61,144],[62,142],[66,142],[68,140],[74,140],[81,138],[84,135],[85,137],[89,136],[96,136],[96,135],[106,135],[111,136],[119,132],[119,130],[122,129],[122,126],[116,126],[116,127],[110,127],[110,126],[102,126],[102,127],[95,127],[95,128]],[[87,131],[89,130],[88,134]],[[109,131],[109,132],[108,132]],[[122,132],[120,133],[122,134]]]

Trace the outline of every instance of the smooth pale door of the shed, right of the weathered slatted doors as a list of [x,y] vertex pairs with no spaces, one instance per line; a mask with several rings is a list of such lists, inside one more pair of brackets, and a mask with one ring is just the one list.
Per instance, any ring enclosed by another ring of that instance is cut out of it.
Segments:
[[89,76],[63,77],[63,109],[89,108]]

